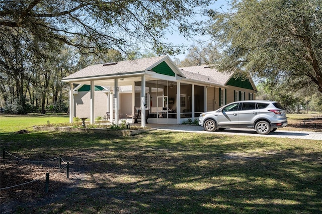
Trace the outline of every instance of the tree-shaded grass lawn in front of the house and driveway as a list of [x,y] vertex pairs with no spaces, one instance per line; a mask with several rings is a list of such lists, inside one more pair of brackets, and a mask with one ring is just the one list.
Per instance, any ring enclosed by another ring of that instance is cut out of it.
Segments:
[[71,163],[67,179],[56,163],[2,160],[1,188],[11,180],[19,184],[14,166],[23,180],[46,170],[52,174],[47,194],[44,179],[2,190],[2,212],[322,212],[321,141],[166,131],[122,138],[16,134],[20,127],[6,131],[0,119],[1,148],[28,160],[62,155]]

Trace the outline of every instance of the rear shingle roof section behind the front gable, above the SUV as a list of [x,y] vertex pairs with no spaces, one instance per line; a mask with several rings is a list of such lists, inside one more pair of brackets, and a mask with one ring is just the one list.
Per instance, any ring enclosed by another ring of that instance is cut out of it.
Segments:
[[211,65],[199,65],[199,66],[191,66],[191,67],[183,67],[179,68],[183,71],[193,72],[196,74],[201,74],[206,77],[212,78],[217,84],[225,85],[227,81],[232,76],[233,72],[219,72]]

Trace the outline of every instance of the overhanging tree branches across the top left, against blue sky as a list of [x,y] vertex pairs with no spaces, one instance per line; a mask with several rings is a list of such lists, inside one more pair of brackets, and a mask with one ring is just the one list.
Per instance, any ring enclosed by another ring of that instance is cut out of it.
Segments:
[[61,41],[79,51],[146,46],[158,54],[180,49],[161,38],[171,29],[190,36],[200,28],[191,18],[210,0],[25,0],[0,3],[1,28],[24,29],[36,41]]

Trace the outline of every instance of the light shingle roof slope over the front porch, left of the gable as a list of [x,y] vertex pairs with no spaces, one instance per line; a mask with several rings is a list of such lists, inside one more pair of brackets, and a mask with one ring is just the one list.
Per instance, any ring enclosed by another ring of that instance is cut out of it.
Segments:
[[91,65],[63,78],[63,80],[142,72],[150,66],[152,66],[154,63],[163,60],[166,57],[168,56],[150,57],[120,61],[116,63]]

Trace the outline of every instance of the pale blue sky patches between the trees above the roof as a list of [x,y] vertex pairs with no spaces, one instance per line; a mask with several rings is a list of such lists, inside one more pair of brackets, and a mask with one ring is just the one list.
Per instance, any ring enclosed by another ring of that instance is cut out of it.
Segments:
[[[209,7],[209,9],[213,9],[215,11],[218,12],[226,12],[228,9],[228,4],[230,1],[227,0],[217,0],[214,1],[214,3]],[[206,20],[207,17],[200,17],[200,20]],[[184,38],[183,36],[179,35],[179,33],[174,32],[174,34],[167,34],[166,37],[168,38],[165,42],[171,42],[174,45],[180,45],[180,44],[184,44],[187,48],[191,47],[191,45],[194,43],[192,40],[188,40],[186,38]],[[210,39],[209,36],[198,36],[198,37],[194,37],[193,38],[195,41],[197,40],[201,40],[201,41],[207,41]],[[187,52],[186,52],[187,53]],[[180,59],[183,60],[185,58],[185,54],[179,54],[176,56],[170,56],[171,59],[175,60],[175,59]]]

